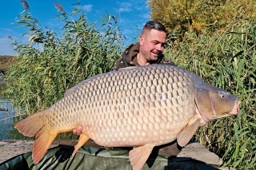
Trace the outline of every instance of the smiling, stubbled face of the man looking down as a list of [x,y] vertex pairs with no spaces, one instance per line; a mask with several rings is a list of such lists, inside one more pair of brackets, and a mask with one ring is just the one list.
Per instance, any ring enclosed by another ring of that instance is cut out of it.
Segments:
[[166,44],[166,33],[159,30],[146,30],[139,38],[140,57],[146,61],[157,61]]

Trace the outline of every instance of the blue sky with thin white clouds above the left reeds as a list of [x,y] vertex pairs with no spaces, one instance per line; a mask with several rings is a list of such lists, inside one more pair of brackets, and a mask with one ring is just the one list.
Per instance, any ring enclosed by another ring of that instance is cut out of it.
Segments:
[[[89,22],[101,22],[101,17],[106,14],[119,14],[119,25],[124,36],[126,36],[126,45],[134,42],[134,38],[142,30],[142,26],[150,20],[150,12],[145,0],[58,0],[58,1],[38,1],[26,0],[30,6],[30,10],[34,18],[36,18],[41,26],[47,26],[55,29],[58,10],[54,6],[54,2],[58,2],[67,13],[74,10],[72,6],[75,2],[80,2],[82,11],[86,14]],[[15,18],[18,17],[23,10],[21,0],[3,1],[0,6],[0,55],[15,55],[10,47],[11,36],[15,40],[26,42],[28,37],[22,37],[26,30],[18,28],[14,24]]]

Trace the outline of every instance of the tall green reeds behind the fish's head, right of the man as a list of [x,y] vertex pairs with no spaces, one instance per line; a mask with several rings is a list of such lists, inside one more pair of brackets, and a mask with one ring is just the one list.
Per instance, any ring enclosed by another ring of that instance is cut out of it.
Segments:
[[[252,24],[253,23],[253,24]],[[194,137],[237,169],[256,167],[256,25],[230,23],[214,35],[187,33],[183,42],[166,49],[178,65],[198,73],[211,85],[226,89],[241,101],[238,117],[226,117],[200,128]]]

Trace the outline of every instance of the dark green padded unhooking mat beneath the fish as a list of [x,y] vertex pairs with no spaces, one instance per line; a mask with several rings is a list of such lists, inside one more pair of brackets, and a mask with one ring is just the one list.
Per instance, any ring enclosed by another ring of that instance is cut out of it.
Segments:
[[[106,150],[104,148],[82,147],[71,156],[73,146],[58,145],[50,148],[38,164],[33,164],[32,152],[27,152],[0,164],[0,170],[131,170],[129,150]],[[163,157],[151,154],[142,170],[216,170],[209,164],[182,157]]]

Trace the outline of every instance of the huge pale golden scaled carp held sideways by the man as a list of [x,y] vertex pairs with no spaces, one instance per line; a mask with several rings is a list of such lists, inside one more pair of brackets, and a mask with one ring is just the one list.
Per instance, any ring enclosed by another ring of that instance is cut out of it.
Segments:
[[129,158],[138,170],[154,146],[176,139],[185,146],[199,126],[237,115],[239,104],[238,97],[206,84],[189,70],[147,65],[90,77],[14,127],[35,136],[34,164],[58,133],[82,127],[73,155],[89,139],[105,147],[134,147]]

